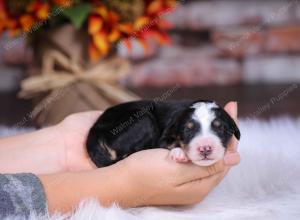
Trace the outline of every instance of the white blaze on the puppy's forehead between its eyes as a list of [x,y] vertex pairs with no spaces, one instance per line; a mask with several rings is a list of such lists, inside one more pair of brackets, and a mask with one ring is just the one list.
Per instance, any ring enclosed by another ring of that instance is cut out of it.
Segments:
[[212,108],[217,107],[217,104],[214,102],[197,102],[192,105],[191,108],[195,109],[192,118],[200,123],[202,135],[211,133],[210,125],[216,117]]

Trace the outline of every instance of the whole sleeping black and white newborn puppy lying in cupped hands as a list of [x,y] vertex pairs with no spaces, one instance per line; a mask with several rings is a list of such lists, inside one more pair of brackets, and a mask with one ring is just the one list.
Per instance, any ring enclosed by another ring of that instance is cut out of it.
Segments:
[[166,148],[177,162],[209,166],[222,159],[240,131],[212,101],[135,101],[108,108],[91,128],[87,152],[97,167],[137,151]]

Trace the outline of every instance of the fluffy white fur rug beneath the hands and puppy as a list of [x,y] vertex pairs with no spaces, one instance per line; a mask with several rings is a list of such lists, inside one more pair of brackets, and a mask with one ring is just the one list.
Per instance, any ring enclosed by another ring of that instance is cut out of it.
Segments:
[[[83,202],[73,220],[299,220],[300,119],[242,121],[242,161],[193,207],[105,209]],[[52,216],[52,220],[66,216]],[[34,217],[32,219],[35,219]]]

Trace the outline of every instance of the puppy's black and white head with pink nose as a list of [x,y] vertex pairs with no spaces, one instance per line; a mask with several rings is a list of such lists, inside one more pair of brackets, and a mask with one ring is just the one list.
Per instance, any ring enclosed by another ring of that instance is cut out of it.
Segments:
[[200,166],[222,159],[230,138],[240,131],[228,113],[214,102],[190,106],[177,123],[177,138],[188,158]]

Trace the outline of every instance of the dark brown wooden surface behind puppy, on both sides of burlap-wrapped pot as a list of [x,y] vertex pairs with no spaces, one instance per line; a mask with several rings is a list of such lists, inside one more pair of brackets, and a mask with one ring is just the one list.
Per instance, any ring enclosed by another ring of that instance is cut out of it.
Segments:
[[[205,88],[139,88],[138,95],[153,99],[213,99],[220,104],[230,100],[239,103],[241,117],[270,118],[274,116],[300,117],[300,85],[252,85]],[[287,92],[288,91],[288,92]],[[274,98],[281,97],[274,103]],[[272,103],[273,98],[273,103]],[[32,126],[30,101],[16,98],[16,93],[0,93],[0,124]]]

